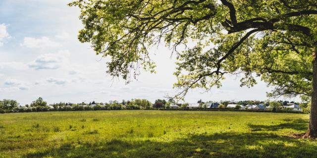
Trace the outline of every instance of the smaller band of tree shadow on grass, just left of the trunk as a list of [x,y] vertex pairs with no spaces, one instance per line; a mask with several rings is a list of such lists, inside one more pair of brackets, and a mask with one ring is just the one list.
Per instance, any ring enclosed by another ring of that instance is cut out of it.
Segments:
[[273,125],[258,125],[249,124],[252,131],[277,131],[280,129],[293,129],[299,131],[305,131],[308,129],[308,121],[306,119],[283,119],[286,123],[273,124]]

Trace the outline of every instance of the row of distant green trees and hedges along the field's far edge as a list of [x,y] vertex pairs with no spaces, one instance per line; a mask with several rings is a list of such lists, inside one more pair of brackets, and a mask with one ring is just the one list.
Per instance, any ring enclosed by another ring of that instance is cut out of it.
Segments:
[[[285,110],[283,106],[287,103],[299,104],[304,112],[309,112],[310,109],[310,100],[307,98],[302,98],[303,102],[301,104],[289,101],[257,101],[257,100],[246,100],[236,102],[238,105],[256,105],[264,104],[265,106],[270,106],[274,110]],[[211,101],[209,101],[211,102]],[[198,100],[200,108],[206,108],[206,103],[202,100]],[[224,109],[232,101],[220,101],[219,109]],[[0,113],[11,113],[11,112],[45,112],[45,111],[84,111],[84,110],[139,110],[139,109],[169,109],[171,104],[176,104],[180,106],[180,109],[186,109],[188,103],[177,104],[174,99],[157,99],[155,103],[151,103],[147,99],[132,99],[132,100],[122,100],[119,101],[109,101],[109,103],[96,103],[95,101],[90,103],[54,103],[48,105],[43,98],[39,97],[37,100],[33,101],[30,105],[20,106],[20,104],[15,100],[3,99],[0,100]]]

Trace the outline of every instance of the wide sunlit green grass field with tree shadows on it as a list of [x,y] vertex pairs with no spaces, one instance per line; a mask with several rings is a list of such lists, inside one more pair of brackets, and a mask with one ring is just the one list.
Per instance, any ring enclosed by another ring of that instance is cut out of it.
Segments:
[[306,114],[82,111],[0,115],[0,158],[316,158]]

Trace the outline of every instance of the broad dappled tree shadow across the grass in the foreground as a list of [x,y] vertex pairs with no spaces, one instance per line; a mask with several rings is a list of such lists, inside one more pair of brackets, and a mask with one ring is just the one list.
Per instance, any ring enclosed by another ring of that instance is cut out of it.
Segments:
[[313,158],[317,142],[267,133],[188,135],[171,142],[99,141],[64,144],[27,158]]

